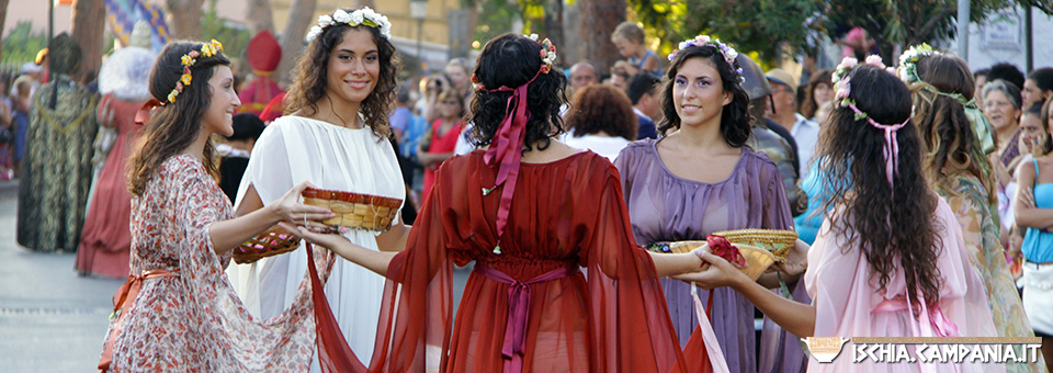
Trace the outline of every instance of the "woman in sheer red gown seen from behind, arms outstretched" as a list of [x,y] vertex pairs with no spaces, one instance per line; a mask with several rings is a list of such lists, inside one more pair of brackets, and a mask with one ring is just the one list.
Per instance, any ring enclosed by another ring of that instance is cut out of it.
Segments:
[[[566,101],[554,59],[547,39],[487,43],[471,136],[488,148],[442,165],[405,251],[298,230],[388,279],[371,365],[319,321],[324,371],[710,371],[701,343],[680,350],[658,283],[700,260],[638,248],[618,170],[554,139]],[[451,332],[451,265],[471,261]]]

